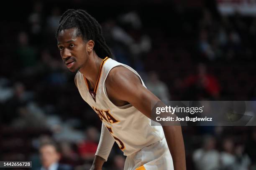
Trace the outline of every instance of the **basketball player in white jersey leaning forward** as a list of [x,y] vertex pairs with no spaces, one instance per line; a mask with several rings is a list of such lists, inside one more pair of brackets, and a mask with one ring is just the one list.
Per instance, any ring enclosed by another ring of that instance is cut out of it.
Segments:
[[56,32],[60,55],[75,75],[82,98],[102,120],[100,142],[91,170],[101,170],[116,142],[125,170],[185,170],[180,126],[151,126],[151,101],[131,67],[113,59],[100,24],[84,10],[67,10]]

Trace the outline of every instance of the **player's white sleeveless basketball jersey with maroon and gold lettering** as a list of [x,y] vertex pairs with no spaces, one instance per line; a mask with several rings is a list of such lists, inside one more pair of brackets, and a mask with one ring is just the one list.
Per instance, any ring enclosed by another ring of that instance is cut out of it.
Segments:
[[[94,91],[89,90],[87,79],[81,72],[77,72],[77,88],[108,128],[124,155],[131,155],[163,139],[164,131],[161,126],[151,126],[151,120],[131,104],[119,107],[109,100],[105,80],[110,70],[118,65],[131,70],[141,79],[131,67],[106,57],[100,66]],[[141,82],[146,87],[142,79]]]

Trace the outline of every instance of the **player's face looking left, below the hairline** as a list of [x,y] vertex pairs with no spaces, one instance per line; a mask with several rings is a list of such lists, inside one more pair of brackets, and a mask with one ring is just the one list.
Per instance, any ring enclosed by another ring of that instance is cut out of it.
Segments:
[[77,36],[77,29],[61,30],[58,36],[58,48],[63,62],[71,72],[77,72],[88,59],[86,42]]

